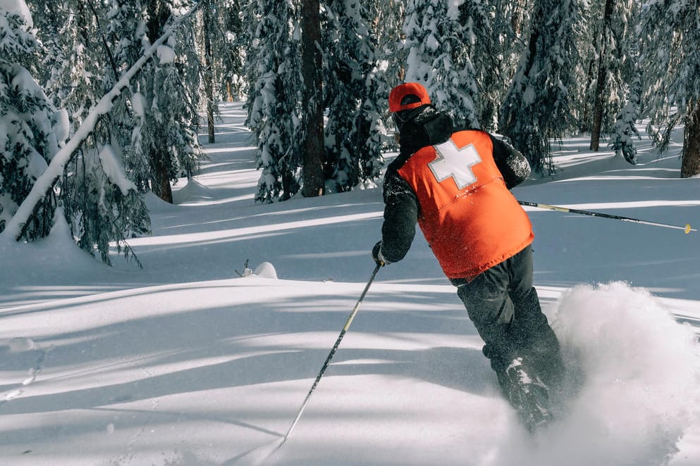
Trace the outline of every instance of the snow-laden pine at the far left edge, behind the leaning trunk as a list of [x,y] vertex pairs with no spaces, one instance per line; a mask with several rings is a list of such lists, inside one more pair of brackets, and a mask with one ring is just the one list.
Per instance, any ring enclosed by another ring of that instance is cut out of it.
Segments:
[[[0,232],[68,136],[65,114],[56,111],[30,73],[42,53],[31,28],[24,0],[0,2]],[[16,239],[46,237],[55,209],[51,189]]]

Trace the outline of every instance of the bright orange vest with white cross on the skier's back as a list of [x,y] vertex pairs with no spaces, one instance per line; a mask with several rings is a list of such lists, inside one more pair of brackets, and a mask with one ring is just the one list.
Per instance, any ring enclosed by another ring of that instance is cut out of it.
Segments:
[[418,225],[448,278],[472,279],[534,239],[485,132],[455,132],[417,151],[398,174],[415,191]]

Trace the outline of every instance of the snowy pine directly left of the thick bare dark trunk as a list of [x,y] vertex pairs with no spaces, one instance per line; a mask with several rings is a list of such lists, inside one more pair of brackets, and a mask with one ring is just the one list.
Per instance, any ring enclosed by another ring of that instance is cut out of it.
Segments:
[[299,191],[300,31],[297,6],[290,0],[256,0],[247,54],[251,86],[248,126],[257,135],[257,166],[262,168],[256,201],[285,200]]

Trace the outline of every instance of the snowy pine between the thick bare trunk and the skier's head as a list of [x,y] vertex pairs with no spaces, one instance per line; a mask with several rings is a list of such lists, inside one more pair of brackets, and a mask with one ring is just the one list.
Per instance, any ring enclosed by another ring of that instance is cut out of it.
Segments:
[[377,74],[376,34],[359,0],[325,4],[324,91],[326,189],[348,191],[379,175],[381,115],[379,92],[386,89]]

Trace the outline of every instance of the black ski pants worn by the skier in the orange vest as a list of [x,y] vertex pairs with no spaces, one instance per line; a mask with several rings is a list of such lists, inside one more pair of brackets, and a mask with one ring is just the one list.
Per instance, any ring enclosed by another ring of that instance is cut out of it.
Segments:
[[522,358],[524,370],[539,376],[551,389],[563,378],[559,342],[542,313],[532,286],[532,250],[529,246],[494,265],[471,281],[453,279],[469,319],[484,340],[483,352],[491,360],[498,382],[508,393],[505,370]]

